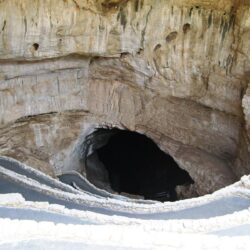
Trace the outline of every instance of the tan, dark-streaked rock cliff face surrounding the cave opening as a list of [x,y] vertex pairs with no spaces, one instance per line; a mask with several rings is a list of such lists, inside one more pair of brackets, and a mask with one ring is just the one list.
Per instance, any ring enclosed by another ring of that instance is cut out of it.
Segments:
[[247,0],[1,0],[0,153],[80,170],[87,131],[118,127],[213,192],[250,172],[249,41]]

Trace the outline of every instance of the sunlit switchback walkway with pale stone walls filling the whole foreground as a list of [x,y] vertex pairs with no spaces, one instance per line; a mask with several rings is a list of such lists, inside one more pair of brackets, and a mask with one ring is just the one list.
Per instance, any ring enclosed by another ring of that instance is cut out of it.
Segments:
[[249,177],[216,195],[152,204],[64,177],[80,189],[0,157],[0,250],[250,249]]

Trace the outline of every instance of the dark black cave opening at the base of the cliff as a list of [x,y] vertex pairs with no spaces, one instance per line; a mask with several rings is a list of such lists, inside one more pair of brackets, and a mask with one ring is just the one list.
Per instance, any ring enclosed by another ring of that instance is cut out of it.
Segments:
[[194,183],[187,171],[143,134],[98,129],[95,149],[86,160],[90,182],[106,190],[158,201],[179,200],[177,186]]

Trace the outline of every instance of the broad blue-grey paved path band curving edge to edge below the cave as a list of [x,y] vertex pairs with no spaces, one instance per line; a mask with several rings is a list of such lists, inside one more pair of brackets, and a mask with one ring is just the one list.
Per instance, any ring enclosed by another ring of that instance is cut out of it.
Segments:
[[[10,167],[8,167],[10,169]],[[13,167],[12,167],[13,169]],[[33,177],[32,174],[29,177]],[[36,179],[37,180],[37,179]],[[44,182],[45,183],[45,182]],[[82,185],[84,187],[84,185]],[[88,189],[88,191],[90,191]],[[29,201],[46,201],[51,204],[60,204],[69,209],[79,209],[85,211],[92,211],[106,215],[119,215],[129,218],[138,218],[146,220],[168,220],[168,219],[208,219],[215,216],[222,216],[231,214],[236,211],[241,211],[250,207],[250,199],[243,197],[226,197],[220,200],[209,202],[205,205],[200,205],[175,212],[162,212],[162,213],[135,213],[135,212],[121,212],[115,209],[107,209],[97,206],[89,206],[84,202],[76,202],[64,197],[58,197],[53,194],[48,194],[36,190],[35,188],[28,187],[22,183],[6,177],[0,173],[0,193],[20,193],[26,200]],[[1,214],[0,214],[1,217]]]

